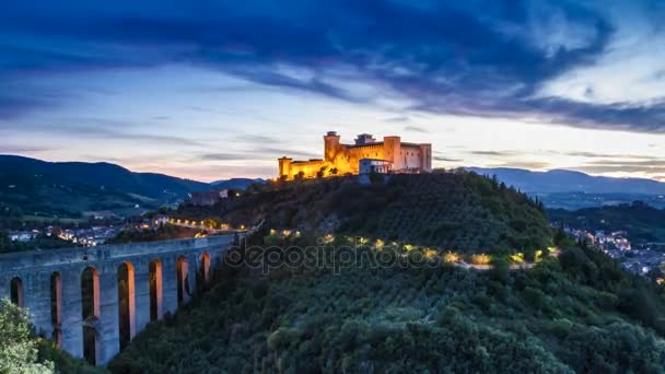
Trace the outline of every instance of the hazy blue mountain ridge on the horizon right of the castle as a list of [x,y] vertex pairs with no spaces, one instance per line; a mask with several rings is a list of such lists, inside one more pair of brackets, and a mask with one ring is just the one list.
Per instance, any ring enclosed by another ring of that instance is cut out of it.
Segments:
[[521,168],[467,167],[481,175],[495,175],[499,180],[527,194],[633,194],[665,195],[665,183],[643,178],[611,178],[580,172],[553,170],[532,172]]

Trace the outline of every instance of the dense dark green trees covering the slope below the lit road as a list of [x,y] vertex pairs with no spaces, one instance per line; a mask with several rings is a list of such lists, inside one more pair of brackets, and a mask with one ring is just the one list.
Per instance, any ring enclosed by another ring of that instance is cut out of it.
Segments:
[[[302,247],[314,238],[284,241]],[[558,244],[558,258],[526,271],[501,261],[464,270],[439,256],[427,267],[341,272],[226,265],[205,295],[149,326],[109,370],[662,372],[662,290],[595,249]]]

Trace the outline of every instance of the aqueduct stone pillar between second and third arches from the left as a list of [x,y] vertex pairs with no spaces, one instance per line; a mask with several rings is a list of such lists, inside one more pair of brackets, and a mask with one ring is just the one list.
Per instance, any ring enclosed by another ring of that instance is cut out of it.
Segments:
[[83,306],[81,304],[81,271],[62,270],[62,349],[75,358],[83,358]]

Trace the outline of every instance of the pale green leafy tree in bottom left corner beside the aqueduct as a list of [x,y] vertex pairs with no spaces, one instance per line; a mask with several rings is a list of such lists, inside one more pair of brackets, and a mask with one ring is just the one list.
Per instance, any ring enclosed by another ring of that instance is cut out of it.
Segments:
[[0,300],[0,373],[55,373],[54,363],[38,362],[37,354],[27,313]]

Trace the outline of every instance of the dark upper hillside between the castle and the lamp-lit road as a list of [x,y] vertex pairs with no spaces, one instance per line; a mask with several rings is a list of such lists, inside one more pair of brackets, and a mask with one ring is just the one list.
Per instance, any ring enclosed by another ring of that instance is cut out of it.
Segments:
[[235,225],[266,220],[279,230],[342,233],[458,252],[521,252],[551,245],[547,219],[524,194],[467,173],[272,183],[212,208],[172,215]]

